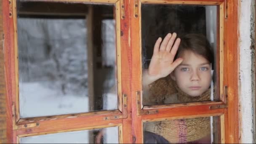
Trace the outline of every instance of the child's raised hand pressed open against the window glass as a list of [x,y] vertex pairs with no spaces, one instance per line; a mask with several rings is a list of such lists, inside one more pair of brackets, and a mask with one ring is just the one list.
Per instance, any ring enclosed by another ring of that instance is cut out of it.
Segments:
[[166,77],[183,61],[181,58],[173,61],[181,41],[180,38],[176,39],[176,36],[176,33],[168,33],[162,43],[161,37],[157,39],[149,64],[149,77],[155,77],[155,79]]

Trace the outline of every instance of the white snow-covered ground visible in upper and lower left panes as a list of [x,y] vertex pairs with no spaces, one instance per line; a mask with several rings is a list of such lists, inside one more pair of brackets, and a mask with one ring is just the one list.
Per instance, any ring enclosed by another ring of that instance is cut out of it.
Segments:
[[[111,104],[111,105],[108,105]],[[116,105],[115,105],[116,104]],[[55,89],[40,83],[22,83],[20,85],[21,117],[40,117],[70,113],[88,112],[88,97],[61,95]],[[104,109],[117,108],[117,96],[107,94],[104,97]],[[104,143],[118,143],[118,128],[106,128]],[[29,143],[88,143],[88,130],[54,133],[41,136],[21,138],[22,144]]]

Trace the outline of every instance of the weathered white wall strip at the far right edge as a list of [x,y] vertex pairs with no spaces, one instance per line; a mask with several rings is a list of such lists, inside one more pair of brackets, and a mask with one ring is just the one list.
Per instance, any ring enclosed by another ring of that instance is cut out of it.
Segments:
[[240,143],[255,143],[255,0],[240,0]]

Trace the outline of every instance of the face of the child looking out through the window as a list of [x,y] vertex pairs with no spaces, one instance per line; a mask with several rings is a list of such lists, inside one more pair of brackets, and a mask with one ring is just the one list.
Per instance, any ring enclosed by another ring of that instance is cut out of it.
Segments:
[[207,59],[192,51],[184,51],[182,63],[171,73],[178,87],[189,96],[199,96],[211,85],[211,65]]

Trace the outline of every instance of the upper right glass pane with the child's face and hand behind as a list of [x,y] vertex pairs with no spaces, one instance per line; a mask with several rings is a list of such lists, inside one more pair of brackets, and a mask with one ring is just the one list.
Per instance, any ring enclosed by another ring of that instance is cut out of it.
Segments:
[[217,8],[141,5],[144,105],[219,100]]

